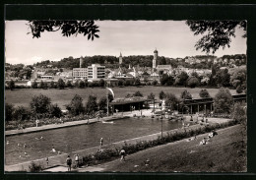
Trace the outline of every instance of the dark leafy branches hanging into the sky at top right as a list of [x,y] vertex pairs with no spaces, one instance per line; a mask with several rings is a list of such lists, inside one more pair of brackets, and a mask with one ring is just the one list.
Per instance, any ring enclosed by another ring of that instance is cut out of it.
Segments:
[[186,24],[194,35],[203,35],[195,47],[206,53],[215,53],[220,47],[229,47],[236,28],[243,29],[243,37],[246,37],[246,21],[186,21]]

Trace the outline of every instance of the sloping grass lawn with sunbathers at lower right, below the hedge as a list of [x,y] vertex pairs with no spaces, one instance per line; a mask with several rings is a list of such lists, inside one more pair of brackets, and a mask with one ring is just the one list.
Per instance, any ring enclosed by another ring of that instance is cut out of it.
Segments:
[[[246,150],[242,149],[241,126],[236,125],[217,132],[218,135],[208,145],[199,146],[199,142],[207,136],[205,134],[191,142],[182,140],[142,150],[129,155],[125,162],[117,159],[101,164],[97,168],[101,167],[102,171],[115,172],[246,171],[247,159]],[[148,165],[146,165],[147,159],[150,160]]]

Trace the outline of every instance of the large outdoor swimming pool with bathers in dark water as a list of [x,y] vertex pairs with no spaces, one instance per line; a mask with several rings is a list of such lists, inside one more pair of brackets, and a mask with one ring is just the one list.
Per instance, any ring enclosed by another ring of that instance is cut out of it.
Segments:
[[[163,131],[177,129],[181,122],[162,121]],[[62,153],[75,150],[84,150],[103,144],[124,141],[155,133],[160,133],[161,122],[149,118],[128,118],[115,120],[114,123],[95,123],[90,125],[73,126],[55,130],[41,131],[30,134],[6,137],[5,161],[6,165],[17,164],[46,156],[52,156],[52,147]],[[42,140],[37,140],[43,137]],[[20,146],[18,146],[18,144]],[[27,145],[24,148],[24,145]],[[24,152],[29,155],[25,156]],[[56,154],[56,153],[55,153]],[[20,157],[20,155],[22,155]]]

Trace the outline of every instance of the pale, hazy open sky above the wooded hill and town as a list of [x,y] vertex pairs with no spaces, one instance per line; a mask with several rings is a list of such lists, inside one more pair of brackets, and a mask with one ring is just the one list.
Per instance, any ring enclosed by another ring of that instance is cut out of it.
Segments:
[[[194,47],[200,36],[195,36],[185,21],[96,21],[99,38],[88,40],[87,36],[62,36],[60,31],[43,32],[32,38],[27,21],[5,22],[5,61],[25,65],[65,57],[94,55],[153,55],[157,48],[159,56],[184,58],[206,55]],[[230,48],[220,48],[214,55],[246,54],[246,38],[237,29],[231,38]],[[212,54],[210,54],[212,55]]]

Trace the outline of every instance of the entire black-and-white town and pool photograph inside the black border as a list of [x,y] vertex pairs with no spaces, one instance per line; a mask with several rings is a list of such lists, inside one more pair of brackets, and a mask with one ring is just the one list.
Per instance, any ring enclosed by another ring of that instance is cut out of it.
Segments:
[[247,20],[6,20],[5,172],[247,172]]

